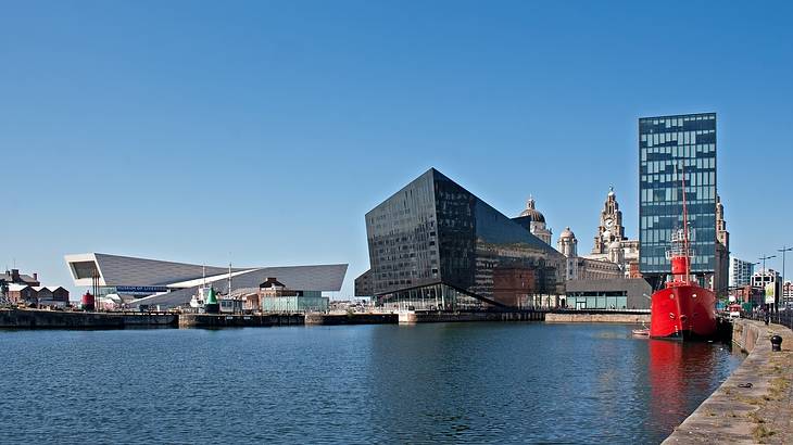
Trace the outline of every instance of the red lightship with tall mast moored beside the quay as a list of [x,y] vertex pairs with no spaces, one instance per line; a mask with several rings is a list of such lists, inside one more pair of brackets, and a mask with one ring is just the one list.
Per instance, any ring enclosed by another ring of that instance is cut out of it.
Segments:
[[[685,178],[683,174],[683,191]],[[689,220],[683,192],[683,228],[672,234],[666,253],[671,262],[672,280],[652,296],[650,336],[653,339],[688,340],[708,338],[716,333],[716,294],[700,287],[691,276]]]

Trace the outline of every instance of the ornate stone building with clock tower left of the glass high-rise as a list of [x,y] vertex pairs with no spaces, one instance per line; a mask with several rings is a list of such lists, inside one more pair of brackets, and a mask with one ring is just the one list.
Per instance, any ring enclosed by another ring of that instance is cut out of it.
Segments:
[[608,189],[601,211],[600,225],[595,231],[592,251],[586,255],[589,259],[616,263],[626,278],[639,278],[639,240],[625,236],[622,211],[619,209],[614,188]]

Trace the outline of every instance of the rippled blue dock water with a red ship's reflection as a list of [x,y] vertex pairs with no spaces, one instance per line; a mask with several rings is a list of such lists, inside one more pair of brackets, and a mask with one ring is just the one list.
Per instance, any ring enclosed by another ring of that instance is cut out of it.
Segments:
[[742,358],[630,329],[0,331],[0,443],[658,443]]

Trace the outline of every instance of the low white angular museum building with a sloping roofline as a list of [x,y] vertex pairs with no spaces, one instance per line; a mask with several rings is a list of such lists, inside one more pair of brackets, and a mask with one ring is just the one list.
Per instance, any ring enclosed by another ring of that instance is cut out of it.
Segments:
[[129,307],[160,308],[187,306],[203,284],[227,297],[256,293],[268,277],[278,277],[289,289],[338,292],[348,268],[347,264],[224,268],[101,253],[66,255],[65,260],[75,285],[95,288],[97,297],[117,295]]

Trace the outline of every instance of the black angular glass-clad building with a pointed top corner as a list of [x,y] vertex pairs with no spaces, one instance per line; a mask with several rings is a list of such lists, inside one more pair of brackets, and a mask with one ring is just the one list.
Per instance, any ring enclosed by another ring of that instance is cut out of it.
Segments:
[[561,253],[435,168],[367,213],[366,234],[356,289],[385,306],[524,307],[564,293]]

